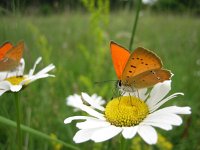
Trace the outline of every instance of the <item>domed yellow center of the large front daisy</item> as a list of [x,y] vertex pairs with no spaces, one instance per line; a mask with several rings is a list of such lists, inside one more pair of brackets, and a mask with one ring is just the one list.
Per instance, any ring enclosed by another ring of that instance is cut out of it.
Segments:
[[108,122],[117,127],[130,127],[139,124],[147,115],[147,104],[133,96],[122,96],[110,101],[105,109]]

